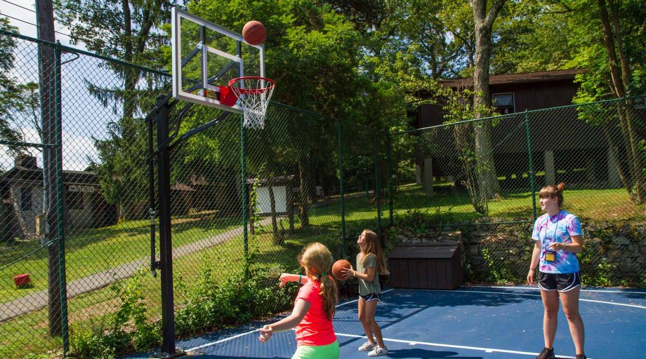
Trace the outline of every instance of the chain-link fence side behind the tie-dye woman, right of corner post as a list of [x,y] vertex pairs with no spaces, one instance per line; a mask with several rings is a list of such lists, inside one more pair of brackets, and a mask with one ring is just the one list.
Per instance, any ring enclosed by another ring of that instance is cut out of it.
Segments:
[[522,282],[544,213],[538,192],[564,182],[563,208],[583,224],[587,284],[645,285],[645,125],[635,97],[390,135],[394,232],[461,229],[472,280]]

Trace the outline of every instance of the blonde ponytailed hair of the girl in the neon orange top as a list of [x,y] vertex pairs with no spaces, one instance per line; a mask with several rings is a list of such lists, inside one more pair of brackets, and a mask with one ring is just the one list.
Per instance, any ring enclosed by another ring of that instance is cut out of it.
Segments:
[[338,300],[336,282],[329,275],[332,266],[332,254],[321,243],[310,243],[298,256],[301,266],[308,276],[321,283],[320,296],[323,299],[323,310],[329,320],[334,316],[334,309]]

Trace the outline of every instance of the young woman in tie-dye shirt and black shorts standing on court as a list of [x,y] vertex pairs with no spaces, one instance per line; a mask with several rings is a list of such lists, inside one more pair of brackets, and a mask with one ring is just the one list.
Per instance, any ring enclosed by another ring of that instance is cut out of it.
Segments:
[[534,252],[529,263],[527,282],[534,284],[536,267],[539,266],[538,286],[543,299],[543,339],[545,347],[536,359],[555,359],[552,346],[558,324],[559,299],[572,334],[576,359],[586,359],[584,354],[584,322],[579,315],[581,276],[576,253],[583,250],[581,222],[572,213],[561,210],[565,184],[546,186],[539,192],[541,209],[546,212],[534,223],[532,239]]

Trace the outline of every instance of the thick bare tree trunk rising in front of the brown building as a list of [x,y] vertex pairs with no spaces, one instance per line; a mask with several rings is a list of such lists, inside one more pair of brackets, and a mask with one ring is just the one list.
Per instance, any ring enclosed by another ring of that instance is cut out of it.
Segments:
[[[470,0],[473,8],[475,22],[475,66],[473,69],[473,107],[489,107],[489,60],[492,53],[492,27],[501,11],[505,0],[494,0],[487,11],[487,0]],[[481,118],[480,112],[476,118]],[[475,151],[482,163],[479,170],[480,191],[484,191],[487,198],[496,196],[500,191],[498,176],[494,165],[494,151],[492,149],[492,124],[490,121],[477,121],[475,129]]]

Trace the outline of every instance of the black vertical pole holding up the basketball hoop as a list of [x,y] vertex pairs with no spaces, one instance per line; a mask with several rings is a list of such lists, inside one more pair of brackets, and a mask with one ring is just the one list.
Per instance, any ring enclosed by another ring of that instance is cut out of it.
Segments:
[[157,196],[159,198],[159,269],[162,280],[162,353],[159,358],[184,355],[175,348],[175,312],[173,300],[173,247],[171,241],[171,150],[169,140],[169,104],[157,97]]

